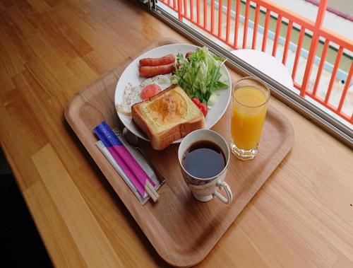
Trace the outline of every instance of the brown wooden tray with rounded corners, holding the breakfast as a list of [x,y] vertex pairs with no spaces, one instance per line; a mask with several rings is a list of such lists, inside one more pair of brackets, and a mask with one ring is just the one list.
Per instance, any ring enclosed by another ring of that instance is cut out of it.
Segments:
[[[146,51],[172,42],[167,39],[157,40]],[[129,57],[116,69],[73,96],[66,107],[65,117],[160,256],[174,266],[191,266],[201,262],[210,252],[285,158],[293,144],[292,124],[273,107],[268,108],[258,156],[247,162],[231,156],[226,181],[232,188],[234,200],[228,205],[218,199],[203,203],[193,198],[181,177],[177,159],[178,144],[160,152],[152,150],[148,142],[141,141],[143,151],[162,175],[167,177],[167,182],[158,191],[159,201],[156,204],[148,202],[141,205],[124,180],[120,179],[112,165],[98,151],[95,146],[97,138],[92,132],[102,120],[107,121],[110,127],[123,127],[114,108],[114,91],[121,72],[133,58]],[[220,122],[213,127],[228,141],[229,107]]]

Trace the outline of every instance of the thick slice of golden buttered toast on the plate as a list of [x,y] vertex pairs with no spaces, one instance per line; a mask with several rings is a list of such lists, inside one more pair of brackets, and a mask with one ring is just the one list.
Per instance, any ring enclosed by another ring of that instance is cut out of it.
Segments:
[[205,127],[201,110],[177,85],[131,108],[132,119],[150,139],[152,148],[162,150],[193,130]]

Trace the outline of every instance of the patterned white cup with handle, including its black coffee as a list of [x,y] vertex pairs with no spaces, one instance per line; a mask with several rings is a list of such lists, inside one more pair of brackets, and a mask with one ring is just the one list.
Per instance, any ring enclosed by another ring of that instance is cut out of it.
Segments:
[[[203,144],[206,144],[205,147],[210,148],[206,148],[206,151],[199,150],[203,148]],[[198,148],[198,146],[200,148]],[[211,147],[215,148],[215,156],[213,156]],[[198,150],[198,152],[196,152],[196,150]],[[220,152],[217,154],[217,151]],[[198,156],[195,155],[195,163],[199,163],[198,165],[202,166],[197,167],[196,165],[192,170],[188,168],[193,164],[188,165],[188,163],[186,163],[186,161],[188,161],[188,153],[190,152],[199,153]],[[220,153],[222,156],[219,156]],[[208,157],[211,157],[211,159]],[[215,159],[212,157],[215,157]],[[223,162],[220,157],[224,158]],[[219,198],[220,201],[225,204],[232,202],[232,190],[227,182],[225,182],[229,164],[229,148],[227,142],[220,134],[210,129],[198,129],[189,133],[184,137],[183,141],[181,141],[178,150],[178,158],[181,173],[193,197],[201,202],[208,202],[213,199],[213,197]],[[215,166],[213,167],[213,165]],[[206,168],[208,168],[208,170],[205,170],[205,173],[203,173],[203,169]],[[218,192],[219,190],[224,190],[226,195],[223,196],[220,194],[220,192]]]

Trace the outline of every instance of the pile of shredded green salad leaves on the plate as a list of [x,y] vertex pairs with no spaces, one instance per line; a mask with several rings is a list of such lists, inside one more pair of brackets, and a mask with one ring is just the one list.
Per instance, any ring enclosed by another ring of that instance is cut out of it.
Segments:
[[221,81],[221,66],[225,59],[208,51],[207,47],[198,47],[189,55],[189,60],[179,52],[173,83],[179,84],[190,98],[197,97],[208,104],[211,95],[218,88],[227,88]]

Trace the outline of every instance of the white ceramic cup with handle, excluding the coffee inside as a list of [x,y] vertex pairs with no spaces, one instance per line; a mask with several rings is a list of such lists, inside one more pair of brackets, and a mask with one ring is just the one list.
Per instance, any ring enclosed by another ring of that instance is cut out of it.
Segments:
[[[211,141],[220,146],[225,156],[225,168],[213,177],[200,178],[188,173],[182,165],[183,157],[190,146],[197,141]],[[181,173],[183,174],[186,185],[189,186],[193,196],[202,202],[208,202],[213,197],[218,197],[223,203],[229,204],[232,202],[233,195],[229,185],[225,182],[225,175],[227,174],[227,167],[229,163],[229,148],[227,142],[220,134],[210,129],[198,129],[184,137],[179,146],[178,151],[179,164]],[[224,197],[218,190],[225,190],[227,197]]]

